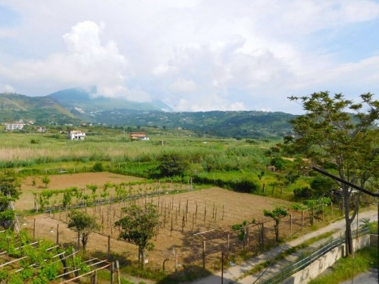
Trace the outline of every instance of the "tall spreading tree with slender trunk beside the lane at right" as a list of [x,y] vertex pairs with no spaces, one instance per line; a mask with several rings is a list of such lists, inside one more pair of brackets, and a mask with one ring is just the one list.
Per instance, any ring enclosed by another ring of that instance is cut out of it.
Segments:
[[[342,94],[330,96],[329,92],[315,92],[309,96],[291,96],[292,101],[301,101],[306,114],[291,121],[295,137],[286,140],[287,150],[303,153],[313,165],[326,168],[343,181],[364,187],[378,175],[378,129],[379,101],[373,94],[361,94],[360,103],[347,100]],[[352,188],[338,183],[342,189],[345,213],[345,244],[351,254],[351,224],[358,210],[359,198],[350,215]]]

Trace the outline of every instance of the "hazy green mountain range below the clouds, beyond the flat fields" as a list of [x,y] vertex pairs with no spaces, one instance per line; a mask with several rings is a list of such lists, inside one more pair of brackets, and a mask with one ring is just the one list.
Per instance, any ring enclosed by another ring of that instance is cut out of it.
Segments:
[[279,138],[292,133],[293,114],[257,111],[173,112],[162,101],[136,103],[93,97],[83,89],[47,96],[0,94],[0,122],[34,120],[38,125],[83,122],[132,127],[182,128],[219,137]]

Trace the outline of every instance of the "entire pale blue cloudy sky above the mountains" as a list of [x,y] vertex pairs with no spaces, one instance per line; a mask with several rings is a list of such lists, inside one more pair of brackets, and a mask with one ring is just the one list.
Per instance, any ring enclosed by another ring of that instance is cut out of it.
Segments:
[[302,113],[291,95],[379,94],[379,1],[0,0],[0,92]]

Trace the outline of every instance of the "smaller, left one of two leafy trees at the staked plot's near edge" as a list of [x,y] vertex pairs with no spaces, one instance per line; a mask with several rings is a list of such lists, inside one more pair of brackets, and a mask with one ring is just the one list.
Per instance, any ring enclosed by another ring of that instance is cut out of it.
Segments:
[[88,242],[88,237],[90,233],[94,231],[98,231],[101,229],[101,226],[97,224],[96,218],[90,216],[86,212],[71,210],[69,213],[69,221],[68,227],[69,229],[77,232],[77,244],[79,246],[80,236],[82,235],[82,245],[83,250],[86,250],[86,245]]

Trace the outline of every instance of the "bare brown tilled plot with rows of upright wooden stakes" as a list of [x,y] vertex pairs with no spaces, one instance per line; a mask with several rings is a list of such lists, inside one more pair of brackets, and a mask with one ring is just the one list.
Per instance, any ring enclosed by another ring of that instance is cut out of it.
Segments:
[[[101,185],[107,181],[104,177],[97,181],[97,175],[99,174],[88,175],[90,183],[97,182]],[[84,178],[78,179],[78,177],[76,176],[75,180],[85,185]],[[124,178],[127,179],[127,177]],[[51,177],[49,188],[53,187],[53,180]],[[64,181],[63,179],[59,183],[60,188],[72,186],[71,183],[64,183]],[[75,183],[75,181],[72,182]],[[233,252],[243,246],[243,242],[236,237],[236,232],[230,230],[232,224],[241,223],[243,220],[260,220],[265,222],[267,228],[266,240],[274,240],[273,230],[271,229],[273,222],[265,219],[262,211],[263,209],[272,210],[278,206],[290,207],[290,203],[280,199],[241,194],[221,188],[170,194],[175,191],[170,188],[171,186],[175,185],[164,185],[164,193],[158,196],[145,196],[138,199],[127,199],[121,203],[99,204],[84,208],[83,210],[96,216],[99,224],[102,225],[101,231],[90,235],[88,250],[107,253],[109,249],[111,254],[117,254],[128,260],[136,259],[138,256],[136,246],[117,240],[119,228],[114,227],[114,222],[123,216],[123,207],[129,206],[131,203],[142,205],[152,202],[158,207],[160,224],[156,228],[158,234],[153,240],[155,248],[147,252],[149,261],[147,266],[161,268],[162,263],[165,262],[165,269],[169,271],[174,271],[180,266],[201,266],[204,240],[206,240],[206,268],[212,270],[214,263],[219,261],[221,251]],[[29,201],[29,205],[31,204]],[[60,243],[76,244],[76,233],[67,229],[67,213],[68,211],[64,210],[32,217],[25,216],[21,217],[20,224],[23,229],[27,229],[30,233],[35,228],[36,238],[43,237],[53,241],[56,241],[58,229]],[[289,218],[283,221],[283,237],[284,234],[290,233],[288,222]],[[291,231],[297,231],[299,226],[299,220],[293,222]],[[257,227],[252,227],[249,232],[247,246],[250,248],[258,246],[257,229]],[[109,248],[108,244],[110,245]],[[176,266],[175,263],[177,263]]]

